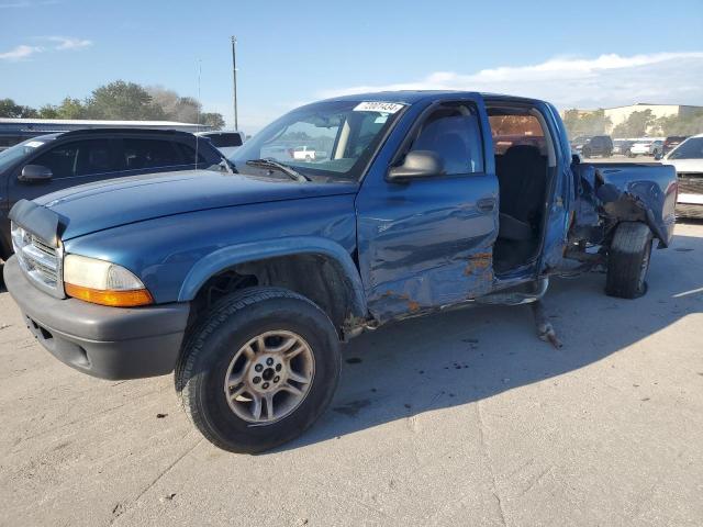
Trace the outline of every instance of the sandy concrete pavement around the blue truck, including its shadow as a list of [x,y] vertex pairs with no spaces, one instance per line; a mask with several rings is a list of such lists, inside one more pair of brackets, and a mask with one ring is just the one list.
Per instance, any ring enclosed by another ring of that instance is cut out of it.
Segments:
[[0,293],[0,524],[700,526],[702,268],[684,224],[643,299],[554,281],[560,350],[525,306],[366,334],[331,410],[259,456],[203,440],[170,377],[60,365]]

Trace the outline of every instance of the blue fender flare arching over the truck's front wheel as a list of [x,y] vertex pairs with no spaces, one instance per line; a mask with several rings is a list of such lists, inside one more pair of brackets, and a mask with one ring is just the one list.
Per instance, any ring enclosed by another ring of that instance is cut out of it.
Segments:
[[223,247],[201,258],[190,269],[178,293],[179,302],[196,298],[202,285],[213,276],[239,264],[281,256],[322,255],[330,258],[345,278],[352,301],[352,314],[366,318],[366,294],[359,271],[352,256],[335,242],[315,236],[290,236],[266,242],[254,242]]

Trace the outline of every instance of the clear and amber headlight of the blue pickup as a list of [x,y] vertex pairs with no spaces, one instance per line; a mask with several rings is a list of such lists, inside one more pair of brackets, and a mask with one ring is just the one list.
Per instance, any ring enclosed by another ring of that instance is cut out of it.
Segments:
[[64,258],[66,294],[94,304],[134,307],[154,303],[142,281],[125,268],[79,255]]

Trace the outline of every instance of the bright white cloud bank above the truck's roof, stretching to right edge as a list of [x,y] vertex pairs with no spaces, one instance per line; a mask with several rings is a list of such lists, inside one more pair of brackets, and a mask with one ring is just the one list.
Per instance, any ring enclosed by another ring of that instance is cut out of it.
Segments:
[[326,90],[322,97],[384,90],[476,90],[536,97],[561,108],[633,102],[703,104],[703,52],[555,57],[528,66],[501,66],[473,74],[435,71],[386,86]]

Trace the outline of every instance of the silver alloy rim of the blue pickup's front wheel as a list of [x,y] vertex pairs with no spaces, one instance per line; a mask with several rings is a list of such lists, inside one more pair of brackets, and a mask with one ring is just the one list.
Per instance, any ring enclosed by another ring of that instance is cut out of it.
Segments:
[[266,332],[234,355],[224,393],[234,414],[257,425],[290,415],[310,392],[315,359],[310,345],[288,330]]

